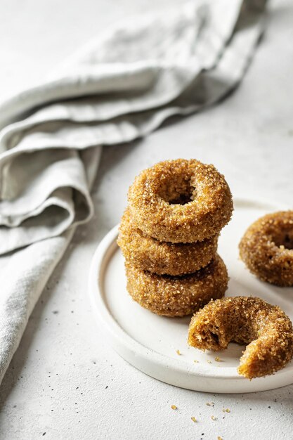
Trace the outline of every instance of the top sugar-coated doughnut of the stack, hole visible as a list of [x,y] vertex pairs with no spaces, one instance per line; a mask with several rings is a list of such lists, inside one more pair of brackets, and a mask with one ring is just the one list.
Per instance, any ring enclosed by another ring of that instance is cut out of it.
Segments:
[[195,159],[166,160],[145,169],[129,188],[128,200],[136,226],[167,242],[211,238],[233,211],[223,175]]

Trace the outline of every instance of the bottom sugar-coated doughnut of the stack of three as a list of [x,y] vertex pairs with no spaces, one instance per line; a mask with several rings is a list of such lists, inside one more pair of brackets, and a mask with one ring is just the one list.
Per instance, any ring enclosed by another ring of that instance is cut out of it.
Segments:
[[228,285],[227,269],[218,254],[200,271],[181,277],[141,271],[127,261],[125,266],[129,294],[157,315],[190,315],[211,298],[223,297]]

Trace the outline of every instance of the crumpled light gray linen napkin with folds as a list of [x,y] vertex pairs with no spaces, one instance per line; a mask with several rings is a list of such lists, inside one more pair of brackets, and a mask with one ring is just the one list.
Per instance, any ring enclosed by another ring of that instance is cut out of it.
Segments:
[[264,7],[191,1],[124,22],[0,104],[0,380],[74,226],[93,214],[101,145],[226,96],[252,57]]

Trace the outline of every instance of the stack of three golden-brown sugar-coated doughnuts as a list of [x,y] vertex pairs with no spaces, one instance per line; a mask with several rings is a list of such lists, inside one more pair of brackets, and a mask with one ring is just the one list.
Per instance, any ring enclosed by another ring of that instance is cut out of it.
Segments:
[[228,273],[216,250],[233,212],[223,175],[198,160],[159,162],[136,177],[128,200],[117,242],[131,297],[164,316],[223,297]]

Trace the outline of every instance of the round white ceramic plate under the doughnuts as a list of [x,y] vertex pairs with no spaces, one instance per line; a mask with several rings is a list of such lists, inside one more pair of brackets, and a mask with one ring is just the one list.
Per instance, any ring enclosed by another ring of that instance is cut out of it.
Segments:
[[[249,224],[279,209],[282,207],[267,202],[236,200],[233,219],[219,239],[219,254],[230,276],[227,296],[261,297],[278,304],[293,320],[293,288],[259,281],[238,257],[237,245]],[[118,226],[100,242],[93,256],[89,294],[100,330],[122,358],[162,382],[204,392],[255,392],[293,382],[292,363],[275,375],[249,381],[238,375],[236,369],[244,347],[230,344],[227,350],[216,354],[203,353],[188,347],[190,316],[166,318],[136,304],[126,292],[124,259],[116,244],[117,232]],[[220,356],[221,362],[215,361],[216,356]]]

